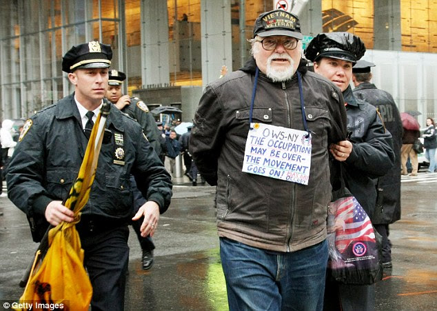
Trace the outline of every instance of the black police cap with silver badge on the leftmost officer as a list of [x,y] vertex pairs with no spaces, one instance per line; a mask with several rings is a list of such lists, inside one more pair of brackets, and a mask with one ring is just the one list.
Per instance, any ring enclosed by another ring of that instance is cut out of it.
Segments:
[[112,49],[99,41],[72,46],[62,58],[62,71],[73,72],[79,68],[108,68],[111,64]]

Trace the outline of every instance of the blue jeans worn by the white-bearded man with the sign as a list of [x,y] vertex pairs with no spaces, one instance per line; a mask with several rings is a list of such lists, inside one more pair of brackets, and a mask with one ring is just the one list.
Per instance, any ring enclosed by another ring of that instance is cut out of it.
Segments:
[[296,252],[273,252],[220,238],[230,310],[322,310],[326,240]]

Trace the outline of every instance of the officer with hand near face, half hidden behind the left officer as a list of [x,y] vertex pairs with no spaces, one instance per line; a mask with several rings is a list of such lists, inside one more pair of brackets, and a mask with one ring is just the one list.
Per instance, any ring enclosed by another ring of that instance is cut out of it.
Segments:
[[[123,81],[126,79],[126,74],[117,70],[110,70],[109,72],[109,80],[108,80],[108,90],[106,91],[105,97],[113,103],[116,108],[119,108],[128,116],[136,119],[141,128],[143,128],[143,132],[145,136],[148,137],[150,145],[154,148],[156,154],[161,154],[161,144],[159,143],[159,130],[156,126],[156,122],[152,114],[149,113],[148,106],[143,103],[138,97],[130,97],[128,95],[123,95],[122,86]],[[134,190],[134,212],[138,210],[138,208],[143,205],[143,195],[136,188],[136,182],[131,177],[132,188]],[[141,257],[141,263],[143,265],[143,270],[149,270],[152,268],[154,262],[154,254],[153,250],[155,245],[150,236],[141,237],[141,219],[139,221],[132,222],[132,228],[134,228],[136,237],[138,237],[138,241],[141,245],[141,250],[143,255]]]

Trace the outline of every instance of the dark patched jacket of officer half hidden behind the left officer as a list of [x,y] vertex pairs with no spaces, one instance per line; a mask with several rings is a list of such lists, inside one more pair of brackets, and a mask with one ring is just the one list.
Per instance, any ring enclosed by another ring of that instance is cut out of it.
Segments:
[[161,154],[161,143],[159,141],[161,133],[156,126],[154,117],[149,112],[148,106],[138,97],[131,97],[130,104],[124,106],[121,111],[138,121],[156,154]]

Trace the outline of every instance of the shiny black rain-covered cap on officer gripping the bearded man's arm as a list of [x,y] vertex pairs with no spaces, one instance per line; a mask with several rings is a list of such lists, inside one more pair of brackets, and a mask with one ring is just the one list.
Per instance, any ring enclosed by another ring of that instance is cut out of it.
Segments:
[[317,34],[305,49],[305,57],[317,61],[321,57],[343,59],[356,63],[363,57],[366,48],[360,37],[349,32],[328,32]]

